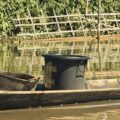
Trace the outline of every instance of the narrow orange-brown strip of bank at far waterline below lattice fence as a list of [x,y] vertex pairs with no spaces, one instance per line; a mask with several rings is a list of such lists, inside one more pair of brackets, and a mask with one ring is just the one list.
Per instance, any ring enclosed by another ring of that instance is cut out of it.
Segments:
[[[92,40],[96,40],[97,36],[84,36],[84,37],[69,37],[69,38],[51,38],[51,39],[32,39],[32,40],[21,40],[20,44],[29,44],[29,43],[48,43],[48,42],[90,42]],[[116,40],[120,39],[120,34],[117,35],[101,35],[100,41],[108,41],[108,40]],[[19,41],[14,41],[15,43],[19,43]]]

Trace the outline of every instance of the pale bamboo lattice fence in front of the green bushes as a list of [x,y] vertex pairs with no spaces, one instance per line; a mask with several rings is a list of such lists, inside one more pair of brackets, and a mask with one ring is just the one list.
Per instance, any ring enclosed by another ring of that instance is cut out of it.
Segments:
[[[79,9],[78,9],[79,10]],[[54,11],[54,9],[53,9]],[[120,13],[102,13],[100,34],[120,34]],[[108,19],[109,18],[109,19]],[[41,19],[44,22],[40,22]],[[53,21],[55,20],[55,21]],[[37,21],[37,22],[36,22]],[[14,19],[15,27],[20,27],[19,36],[41,36],[42,38],[63,38],[63,37],[79,37],[79,36],[94,36],[97,34],[97,14],[68,14],[57,16],[54,11],[54,16],[28,17]],[[74,28],[74,24],[78,24],[78,28]],[[114,24],[114,25],[113,25]],[[51,31],[48,27],[52,25],[57,27],[55,31]],[[64,30],[61,25],[68,25],[69,30]],[[36,29],[39,27],[39,31]],[[60,27],[61,26],[61,27]],[[91,26],[91,28],[90,28]],[[31,28],[31,32],[27,32],[26,28]],[[44,32],[41,29],[44,28]]]

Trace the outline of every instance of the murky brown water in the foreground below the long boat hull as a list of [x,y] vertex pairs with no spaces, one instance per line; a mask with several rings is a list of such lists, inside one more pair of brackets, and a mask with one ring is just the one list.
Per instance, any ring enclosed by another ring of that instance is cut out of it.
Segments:
[[120,100],[0,111],[0,120],[120,120]]

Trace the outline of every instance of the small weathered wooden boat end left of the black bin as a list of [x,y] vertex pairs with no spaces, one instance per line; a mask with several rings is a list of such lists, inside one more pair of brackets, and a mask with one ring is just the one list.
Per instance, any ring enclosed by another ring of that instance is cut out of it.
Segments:
[[38,80],[31,75],[23,73],[0,73],[0,90],[19,91],[32,90]]

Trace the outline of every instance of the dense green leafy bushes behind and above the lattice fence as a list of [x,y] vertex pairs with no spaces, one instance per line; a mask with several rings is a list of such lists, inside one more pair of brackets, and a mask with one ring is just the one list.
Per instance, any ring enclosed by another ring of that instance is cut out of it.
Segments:
[[[19,32],[19,28],[14,27],[13,19],[17,15],[20,17],[28,16],[28,9],[31,16],[45,15],[52,16],[53,8],[57,15],[75,13],[77,8],[81,13],[85,13],[87,0],[0,0],[0,36],[14,36]],[[90,12],[98,11],[97,0],[89,0],[88,8]],[[103,12],[119,12],[120,0],[102,0]],[[66,26],[67,27],[67,26]],[[75,25],[77,27],[77,25]],[[53,31],[55,26],[49,26]],[[44,32],[44,30],[43,30]]]

